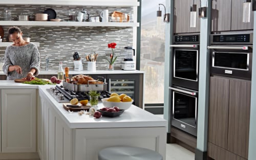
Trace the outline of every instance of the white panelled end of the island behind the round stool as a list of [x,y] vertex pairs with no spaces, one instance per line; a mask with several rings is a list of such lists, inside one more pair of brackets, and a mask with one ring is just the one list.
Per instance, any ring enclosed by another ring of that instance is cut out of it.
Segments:
[[75,129],[75,160],[98,159],[111,146],[134,146],[159,152],[165,159],[166,127]]

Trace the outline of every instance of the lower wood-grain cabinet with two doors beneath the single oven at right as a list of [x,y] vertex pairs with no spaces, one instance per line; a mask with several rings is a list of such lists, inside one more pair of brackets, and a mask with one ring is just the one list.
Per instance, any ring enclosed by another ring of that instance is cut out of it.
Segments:
[[247,159],[251,81],[210,78],[208,156]]

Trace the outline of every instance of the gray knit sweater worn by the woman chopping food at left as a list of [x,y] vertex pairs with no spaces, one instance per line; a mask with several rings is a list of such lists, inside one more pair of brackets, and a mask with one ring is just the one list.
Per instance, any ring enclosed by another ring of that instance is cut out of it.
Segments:
[[[22,74],[18,74],[16,71],[8,72],[10,65],[19,65],[22,68]],[[34,76],[37,76],[40,72],[40,54],[34,43],[23,46],[9,45],[6,48],[3,71],[7,80],[25,78],[32,68],[35,68]]]

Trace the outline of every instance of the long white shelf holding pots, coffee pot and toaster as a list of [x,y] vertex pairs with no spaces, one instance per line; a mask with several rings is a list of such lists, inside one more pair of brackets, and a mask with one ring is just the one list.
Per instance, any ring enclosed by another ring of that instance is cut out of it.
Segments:
[[0,21],[1,26],[88,26],[139,27],[138,22],[83,22],[83,21]]

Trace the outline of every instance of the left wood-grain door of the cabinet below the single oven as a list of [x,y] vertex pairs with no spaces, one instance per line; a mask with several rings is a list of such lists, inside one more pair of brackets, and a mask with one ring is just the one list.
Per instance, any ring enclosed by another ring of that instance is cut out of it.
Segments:
[[229,79],[210,77],[208,141],[227,148]]

